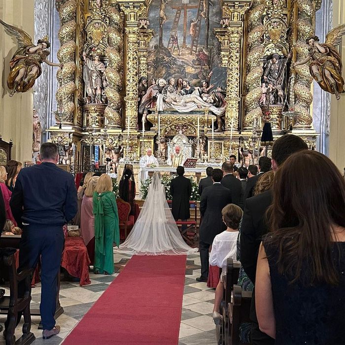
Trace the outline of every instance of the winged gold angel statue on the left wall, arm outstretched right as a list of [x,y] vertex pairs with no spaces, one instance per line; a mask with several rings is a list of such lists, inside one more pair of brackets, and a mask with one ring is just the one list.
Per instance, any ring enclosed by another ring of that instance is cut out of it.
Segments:
[[18,49],[14,53],[9,66],[10,72],[7,77],[7,86],[12,92],[12,97],[16,92],[27,92],[35,84],[35,80],[41,75],[41,64],[45,62],[49,66],[62,68],[62,64],[53,64],[47,57],[50,54],[47,48],[50,47],[48,36],[37,41],[35,45],[32,38],[22,29],[6,24],[2,20],[5,32],[15,38],[18,42]]

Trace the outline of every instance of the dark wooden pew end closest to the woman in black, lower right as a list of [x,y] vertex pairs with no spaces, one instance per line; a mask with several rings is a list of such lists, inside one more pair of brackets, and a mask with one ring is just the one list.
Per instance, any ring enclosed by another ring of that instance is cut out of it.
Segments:
[[234,285],[233,298],[228,305],[228,344],[244,345],[240,342],[240,326],[242,323],[250,322],[249,312],[252,291],[242,291],[241,286]]

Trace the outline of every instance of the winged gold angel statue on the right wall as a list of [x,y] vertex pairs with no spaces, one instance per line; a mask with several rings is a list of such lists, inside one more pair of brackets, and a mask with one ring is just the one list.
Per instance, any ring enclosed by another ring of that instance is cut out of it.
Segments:
[[344,91],[344,79],[342,58],[335,47],[341,42],[343,35],[345,35],[345,25],[331,30],[326,36],[325,43],[319,43],[317,36],[308,37],[306,42],[309,45],[309,55],[306,59],[293,64],[295,67],[311,61],[311,75],[323,90],[336,95],[337,100]]

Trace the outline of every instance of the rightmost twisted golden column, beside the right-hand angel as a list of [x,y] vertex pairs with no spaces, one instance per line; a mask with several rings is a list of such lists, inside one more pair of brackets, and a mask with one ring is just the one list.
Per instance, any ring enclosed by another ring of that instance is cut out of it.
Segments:
[[[314,35],[313,23],[315,8],[312,0],[294,0],[291,5],[291,22],[297,23],[297,30],[293,32],[293,43],[296,47],[297,61],[304,60],[308,54],[306,39]],[[308,64],[296,67],[297,82],[294,86],[296,95],[295,117],[296,129],[310,129],[312,118],[309,107],[312,102],[310,92],[312,76]]]

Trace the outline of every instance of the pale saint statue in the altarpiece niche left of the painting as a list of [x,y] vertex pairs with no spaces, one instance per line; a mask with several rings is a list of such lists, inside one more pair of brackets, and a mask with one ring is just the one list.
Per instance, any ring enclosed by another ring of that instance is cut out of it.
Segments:
[[85,61],[83,77],[85,82],[86,93],[91,97],[91,103],[106,103],[104,89],[108,85],[105,77],[105,66],[100,60],[100,56],[96,55],[95,60],[91,60],[83,52]]

